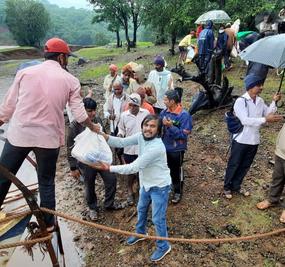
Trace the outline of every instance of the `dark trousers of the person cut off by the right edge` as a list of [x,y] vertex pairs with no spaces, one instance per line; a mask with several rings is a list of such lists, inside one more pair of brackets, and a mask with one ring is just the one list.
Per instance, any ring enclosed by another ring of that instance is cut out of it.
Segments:
[[285,160],[275,155],[275,165],[269,191],[269,201],[277,203],[285,186]]

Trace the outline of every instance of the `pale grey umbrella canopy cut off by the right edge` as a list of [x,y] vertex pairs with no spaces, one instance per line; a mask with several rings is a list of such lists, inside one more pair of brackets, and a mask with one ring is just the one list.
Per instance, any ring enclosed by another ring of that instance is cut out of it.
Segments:
[[285,33],[262,38],[240,53],[243,60],[285,68]]

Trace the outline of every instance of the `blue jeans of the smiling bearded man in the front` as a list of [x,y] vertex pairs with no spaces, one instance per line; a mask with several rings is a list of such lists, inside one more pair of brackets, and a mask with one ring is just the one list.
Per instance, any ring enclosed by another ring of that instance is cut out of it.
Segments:
[[[151,187],[149,191],[145,191],[144,187],[140,189],[140,197],[138,203],[138,222],[136,232],[139,234],[146,233],[147,212],[150,204],[152,205],[152,222],[155,226],[157,236],[168,237],[166,226],[166,211],[168,203],[168,195],[170,186]],[[158,249],[166,250],[169,248],[168,241],[157,240]]]

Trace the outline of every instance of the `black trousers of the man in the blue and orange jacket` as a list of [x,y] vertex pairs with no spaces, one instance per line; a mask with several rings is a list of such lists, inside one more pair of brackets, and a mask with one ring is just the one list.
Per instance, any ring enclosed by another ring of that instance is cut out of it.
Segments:
[[176,194],[182,194],[181,167],[183,163],[184,151],[167,152],[167,165],[170,169],[173,190]]

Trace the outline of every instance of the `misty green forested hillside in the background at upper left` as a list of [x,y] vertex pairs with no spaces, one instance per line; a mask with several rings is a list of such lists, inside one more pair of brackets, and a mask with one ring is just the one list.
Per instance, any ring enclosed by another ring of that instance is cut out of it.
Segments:
[[[41,0],[50,15],[50,29],[46,39],[60,36],[70,44],[105,45],[116,41],[115,33],[107,30],[104,22],[92,24],[95,13],[86,9],[60,8],[48,0]],[[16,44],[5,24],[5,0],[0,0],[0,45]],[[120,33],[124,40],[123,32]],[[141,36],[141,33],[139,32]],[[145,38],[144,38],[145,39]],[[149,36],[147,38],[149,40]]]

